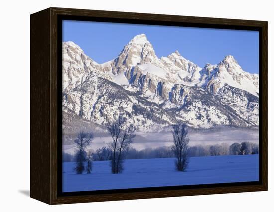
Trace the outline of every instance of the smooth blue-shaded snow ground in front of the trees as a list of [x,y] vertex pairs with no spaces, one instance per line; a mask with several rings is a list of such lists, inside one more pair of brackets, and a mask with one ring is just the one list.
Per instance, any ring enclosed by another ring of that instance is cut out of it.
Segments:
[[94,161],[92,173],[82,175],[73,172],[75,163],[63,163],[63,192],[259,180],[258,155],[192,157],[186,172],[176,171],[174,160],[125,160],[122,174],[111,174],[109,161]]

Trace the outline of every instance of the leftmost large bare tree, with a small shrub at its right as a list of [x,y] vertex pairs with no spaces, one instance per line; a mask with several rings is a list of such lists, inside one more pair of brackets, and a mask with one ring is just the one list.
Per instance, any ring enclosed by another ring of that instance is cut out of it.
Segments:
[[85,170],[84,162],[86,161],[86,148],[90,145],[92,139],[93,135],[91,133],[81,131],[74,140],[74,143],[76,143],[76,166],[74,170],[77,174],[82,174]]

